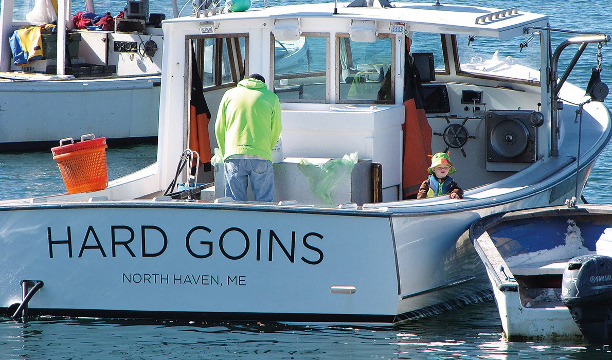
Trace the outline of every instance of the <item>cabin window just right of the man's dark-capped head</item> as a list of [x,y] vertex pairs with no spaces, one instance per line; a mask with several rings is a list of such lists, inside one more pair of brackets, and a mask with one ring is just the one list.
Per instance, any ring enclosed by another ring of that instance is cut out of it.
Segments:
[[274,92],[281,102],[329,102],[329,43],[326,34],[289,41],[272,36]]

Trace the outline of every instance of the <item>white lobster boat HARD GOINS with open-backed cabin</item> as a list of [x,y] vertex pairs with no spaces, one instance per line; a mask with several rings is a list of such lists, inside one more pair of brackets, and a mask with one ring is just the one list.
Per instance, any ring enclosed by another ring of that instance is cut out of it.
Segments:
[[[491,299],[461,234],[580,198],[612,135],[595,72],[589,91],[566,81],[610,37],[553,44],[517,8],[212,2],[162,30],[157,161],[0,201],[7,315],[393,324]],[[281,66],[278,42],[308,51]],[[218,103],[250,73],[282,107],[269,203],[225,197],[209,163]],[[463,198],[415,198],[438,152]]]

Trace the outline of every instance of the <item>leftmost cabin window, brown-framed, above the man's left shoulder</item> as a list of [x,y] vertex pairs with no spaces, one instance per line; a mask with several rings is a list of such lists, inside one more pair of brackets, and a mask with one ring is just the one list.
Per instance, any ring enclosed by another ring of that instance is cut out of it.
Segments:
[[203,89],[234,86],[244,78],[246,36],[190,39]]

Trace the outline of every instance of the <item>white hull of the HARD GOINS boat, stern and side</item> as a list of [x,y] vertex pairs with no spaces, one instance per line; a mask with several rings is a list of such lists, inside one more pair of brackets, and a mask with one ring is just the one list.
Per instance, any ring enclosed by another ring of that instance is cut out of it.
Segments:
[[[397,323],[490,299],[457,212],[170,201],[6,203],[0,307],[32,314]],[[439,224],[444,223],[444,227]],[[12,314],[9,314],[12,315]]]

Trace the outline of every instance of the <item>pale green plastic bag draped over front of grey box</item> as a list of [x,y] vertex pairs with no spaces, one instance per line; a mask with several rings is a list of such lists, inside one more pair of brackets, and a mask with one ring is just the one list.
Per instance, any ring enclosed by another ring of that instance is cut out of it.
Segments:
[[348,178],[357,163],[357,152],[345,155],[342,159],[333,159],[323,165],[315,165],[302,158],[297,168],[306,176],[310,191],[324,204],[334,205],[332,190]]

